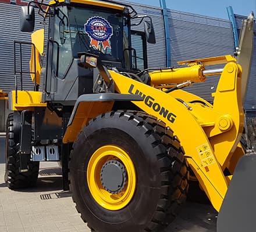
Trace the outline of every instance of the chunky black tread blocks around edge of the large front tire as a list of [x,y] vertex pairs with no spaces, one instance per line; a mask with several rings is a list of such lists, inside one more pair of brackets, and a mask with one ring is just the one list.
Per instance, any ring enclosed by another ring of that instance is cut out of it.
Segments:
[[[161,197],[159,197],[151,222],[147,224],[144,231],[161,231],[175,219],[177,208],[186,200],[189,189],[189,167],[186,158],[184,158],[184,150],[180,146],[179,140],[176,136],[173,136],[171,129],[166,128],[164,122],[157,121],[157,118],[144,112],[130,110],[111,111],[92,119],[87,125],[91,125],[101,118],[123,118],[123,120],[132,121],[136,126],[144,127],[144,135],[151,140],[152,149],[155,149],[155,155],[160,166],[159,173],[162,178]],[[77,137],[79,136],[80,134]],[[74,142],[73,148],[74,146],[76,146],[76,142]],[[74,154],[71,152],[70,160],[74,158],[73,156]],[[178,181],[174,182],[173,180]],[[70,183],[70,190],[73,191],[72,183]],[[76,204],[73,195],[72,198]],[[79,213],[81,212],[77,204],[76,209]],[[87,222],[85,215],[81,215],[81,218],[84,222]],[[90,227],[91,231],[95,231],[90,224],[88,224],[88,227]]]

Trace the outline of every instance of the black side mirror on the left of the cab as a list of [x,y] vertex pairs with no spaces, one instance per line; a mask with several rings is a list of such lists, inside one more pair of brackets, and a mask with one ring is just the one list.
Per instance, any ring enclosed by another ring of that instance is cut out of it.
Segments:
[[[27,12],[29,9],[29,12]],[[35,26],[35,10],[33,6],[20,8],[20,31],[32,32]]]

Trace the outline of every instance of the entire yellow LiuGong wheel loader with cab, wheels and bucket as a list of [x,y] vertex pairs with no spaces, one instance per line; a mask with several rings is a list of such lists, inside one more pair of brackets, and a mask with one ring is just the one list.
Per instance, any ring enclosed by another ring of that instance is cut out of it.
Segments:
[[[45,30],[31,43],[15,41],[20,50],[31,45],[34,90],[21,84],[9,93],[8,187],[33,186],[40,161],[61,161],[63,188],[91,231],[150,232],[173,221],[194,181],[220,211],[219,232],[255,231],[256,155],[240,144],[253,15],[240,33],[239,62],[227,55],[138,68],[131,26],[144,22],[147,42],[155,36],[150,17],[132,6],[30,2],[22,31],[34,30],[33,5]],[[182,90],[212,75],[221,75],[213,104]]]

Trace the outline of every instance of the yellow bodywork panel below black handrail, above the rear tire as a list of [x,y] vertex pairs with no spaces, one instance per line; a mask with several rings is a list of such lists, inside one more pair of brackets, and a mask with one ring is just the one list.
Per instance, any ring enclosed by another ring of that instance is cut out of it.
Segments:
[[47,107],[47,103],[42,103],[41,92],[18,90],[16,95],[15,90],[13,90],[11,95],[12,106],[9,106],[10,110],[26,110],[33,107]]

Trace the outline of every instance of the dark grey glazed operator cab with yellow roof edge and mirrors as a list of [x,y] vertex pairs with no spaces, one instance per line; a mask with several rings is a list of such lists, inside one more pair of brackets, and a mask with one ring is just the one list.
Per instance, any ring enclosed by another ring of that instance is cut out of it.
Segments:
[[[41,5],[48,6],[44,14],[45,25],[49,25],[44,30],[45,34],[48,31],[47,51],[44,51],[47,59],[39,84],[45,102],[72,106],[80,95],[105,92],[104,85],[98,86],[99,72],[79,66],[80,53],[97,55],[108,69],[132,73],[138,72],[138,67],[147,68],[145,62],[137,66],[136,50],[131,46],[132,34],[136,33],[131,31],[131,25],[140,25],[148,16],[137,16],[131,6],[112,1],[83,2],[38,3],[42,12]],[[22,9],[22,31],[33,31],[27,26],[34,23],[27,20],[34,19],[30,16],[31,3]],[[133,19],[138,19],[138,23],[131,24]],[[150,22],[144,21],[144,28],[144,37],[155,43],[151,18]],[[37,40],[32,42],[35,44]]]

